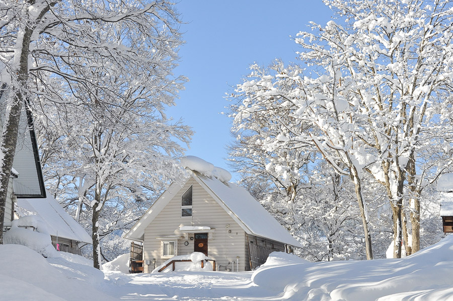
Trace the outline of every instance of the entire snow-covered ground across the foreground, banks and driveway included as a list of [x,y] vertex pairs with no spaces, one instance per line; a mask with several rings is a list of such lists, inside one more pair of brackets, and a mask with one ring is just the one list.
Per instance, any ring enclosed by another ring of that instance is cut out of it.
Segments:
[[76,255],[0,246],[2,300],[453,300],[453,236],[403,259],[310,263],[273,253],[255,272],[105,273]]

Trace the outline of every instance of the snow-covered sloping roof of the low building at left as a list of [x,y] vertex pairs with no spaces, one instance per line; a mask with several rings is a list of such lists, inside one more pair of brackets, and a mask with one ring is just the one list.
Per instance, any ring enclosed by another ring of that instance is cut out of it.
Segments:
[[93,243],[85,229],[48,193],[45,199],[17,199],[16,209],[20,217],[38,215],[52,236],[58,235],[77,242]]

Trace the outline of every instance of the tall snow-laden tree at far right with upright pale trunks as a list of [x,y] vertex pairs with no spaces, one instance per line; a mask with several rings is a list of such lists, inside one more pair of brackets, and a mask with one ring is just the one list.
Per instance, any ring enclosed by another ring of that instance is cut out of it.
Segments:
[[[395,245],[401,246],[403,199],[409,183],[412,251],[419,250],[419,197],[417,188],[442,172],[427,171],[446,163],[439,160],[425,169],[420,149],[431,145],[437,159],[451,158],[451,140],[434,139],[434,128],[446,125],[450,109],[436,109],[451,98],[453,78],[452,3],[449,1],[326,1],[341,17],[338,24],[313,24],[315,32],[300,32],[300,57],[329,70],[333,97],[345,99],[360,114],[350,115],[355,139],[378,155],[366,162],[367,171],[387,189],[394,218]],[[321,75],[321,74],[320,74]],[[347,92],[346,92],[347,91]],[[441,97],[440,97],[441,96]],[[360,116],[362,115],[362,116]],[[360,121],[359,121],[360,120]],[[449,124],[451,126],[451,124]],[[445,150],[447,150],[445,152]],[[439,164],[440,163],[440,164]],[[450,164],[450,163],[449,163]],[[401,257],[401,248],[395,249]]]

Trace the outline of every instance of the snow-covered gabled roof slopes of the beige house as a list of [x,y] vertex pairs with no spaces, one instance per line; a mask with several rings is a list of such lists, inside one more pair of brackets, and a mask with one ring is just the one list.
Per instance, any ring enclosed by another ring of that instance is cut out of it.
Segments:
[[[234,183],[219,181],[215,177],[206,177],[193,171],[191,173],[191,177],[247,234],[302,247],[247,190]],[[143,241],[144,229],[181,189],[179,185],[172,186],[146,211],[124,238]]]

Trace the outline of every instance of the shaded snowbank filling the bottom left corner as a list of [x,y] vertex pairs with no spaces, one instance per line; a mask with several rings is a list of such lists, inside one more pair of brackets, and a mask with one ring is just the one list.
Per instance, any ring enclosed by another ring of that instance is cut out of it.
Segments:
[[115,300],[101,291],[105,282],[101,271],[77,263],[87,262],[85,258],[64,255],[45,259],[25,246],[0,245],[1,299]]

